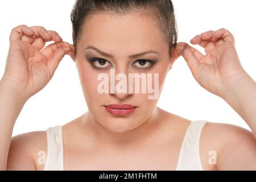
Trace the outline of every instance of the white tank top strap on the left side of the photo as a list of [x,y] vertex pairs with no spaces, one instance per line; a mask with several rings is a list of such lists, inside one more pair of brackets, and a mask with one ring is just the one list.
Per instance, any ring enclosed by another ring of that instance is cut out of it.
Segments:
[[46,130],[47,156],[44,171],[63,171],[62,126],[49,127]]

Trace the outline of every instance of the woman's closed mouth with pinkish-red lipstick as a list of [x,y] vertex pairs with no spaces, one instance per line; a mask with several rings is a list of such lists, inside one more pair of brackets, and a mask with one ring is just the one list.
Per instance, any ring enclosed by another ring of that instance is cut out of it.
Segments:
[[110,114],[114,115],[127,115],[131,114],[136,110],[137,106],[129,105],[129,104],[111,104],[105,106],[105,110]]

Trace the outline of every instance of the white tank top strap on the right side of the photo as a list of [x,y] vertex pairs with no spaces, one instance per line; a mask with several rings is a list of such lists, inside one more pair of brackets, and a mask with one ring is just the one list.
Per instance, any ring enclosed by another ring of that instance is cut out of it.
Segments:
[[185,133],[183,143],[180,148],[179,159],[176,170],[179,171],[203,171],[204,168],[200,160],[200,136],[201,130],[208,121],[191,121]]

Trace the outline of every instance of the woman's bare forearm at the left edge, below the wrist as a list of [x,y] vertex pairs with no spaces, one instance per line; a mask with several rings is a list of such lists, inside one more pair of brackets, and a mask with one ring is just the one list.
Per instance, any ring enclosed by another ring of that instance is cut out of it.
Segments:
[[13,127],[24,103],[14,89],[0,81],[0,170],[6,169]]

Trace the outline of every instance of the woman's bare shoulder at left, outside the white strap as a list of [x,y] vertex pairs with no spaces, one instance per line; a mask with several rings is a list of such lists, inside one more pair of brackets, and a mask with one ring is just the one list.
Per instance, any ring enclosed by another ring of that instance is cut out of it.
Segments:
[[[46,131],[33,131],[11,138],[7,170],[40,170],[39,155],[47,152]],[[40,166],[41,165],[41,166]]]

